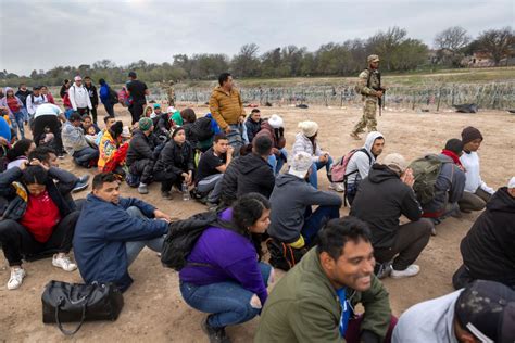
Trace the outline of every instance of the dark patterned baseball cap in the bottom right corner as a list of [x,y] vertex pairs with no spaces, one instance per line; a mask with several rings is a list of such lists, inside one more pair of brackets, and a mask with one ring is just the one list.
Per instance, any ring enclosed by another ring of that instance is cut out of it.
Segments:
[[515,342],[515,291],[505,284],[474,281],[460,294],[454,314],[482,343]]

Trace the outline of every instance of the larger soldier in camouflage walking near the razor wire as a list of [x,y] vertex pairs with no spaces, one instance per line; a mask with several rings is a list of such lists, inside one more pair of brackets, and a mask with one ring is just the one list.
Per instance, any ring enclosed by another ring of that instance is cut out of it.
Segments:
[[376,111],[377,103],[380,102],[385,88],[381,87],[381,74],[378,71],[379,56],[377,54],[370,54],[366,61],[368,67],[361,72],[359,81],[355,87],[357,93],[362,94],[362,99],[365,102],[363,106],[363,116],[361,120],[354,126],[351,137],[360,140],[359,134],[364,132],[366,127],[368,132],[377,131]]

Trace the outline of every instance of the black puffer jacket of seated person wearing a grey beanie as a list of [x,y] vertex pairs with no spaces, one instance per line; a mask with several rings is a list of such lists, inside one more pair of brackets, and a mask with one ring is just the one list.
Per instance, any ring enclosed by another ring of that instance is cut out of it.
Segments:
[[161,151],[154,165],[154,172],[172,172],[180,175],[194,170],[193,150],[188,142],[178,145],[169,140]]

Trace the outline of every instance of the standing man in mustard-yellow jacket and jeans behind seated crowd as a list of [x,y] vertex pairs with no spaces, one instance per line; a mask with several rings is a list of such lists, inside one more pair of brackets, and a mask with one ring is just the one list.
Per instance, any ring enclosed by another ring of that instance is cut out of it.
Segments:
[[234,87],[233,76],[222,73],[210,99],[210,111],[219,128],[225,131],[229,145],[239,154],[243,145],[243,122],[246,113],[240,92]]

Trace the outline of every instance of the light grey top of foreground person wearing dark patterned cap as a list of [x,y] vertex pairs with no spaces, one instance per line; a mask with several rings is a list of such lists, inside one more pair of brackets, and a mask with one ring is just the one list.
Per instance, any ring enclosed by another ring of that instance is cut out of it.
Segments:
[[399,318],[392,342],[457,343],[454,333],[454,306],[463,292],[459,290],[410,307]]

